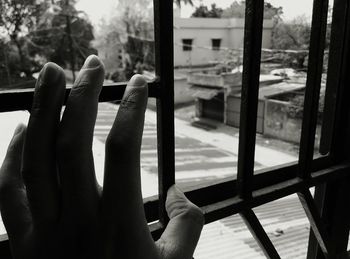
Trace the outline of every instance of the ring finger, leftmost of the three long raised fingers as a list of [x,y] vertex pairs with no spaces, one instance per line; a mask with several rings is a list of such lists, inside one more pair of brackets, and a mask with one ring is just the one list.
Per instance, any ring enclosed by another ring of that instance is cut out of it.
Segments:
[[55,143],[64,92],[63,70],[46,64],[35,86],[23,153],[28,200],[33,220],[40,226],[57,220],[58,215]]

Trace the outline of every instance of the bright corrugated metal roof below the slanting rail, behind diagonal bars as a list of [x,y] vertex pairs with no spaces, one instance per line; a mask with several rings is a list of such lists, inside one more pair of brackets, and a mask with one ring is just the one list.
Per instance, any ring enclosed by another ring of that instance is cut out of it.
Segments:
[[[305,258],[309,222],[298,198],[289,196],[254,209],[281,258]],[[239,215],[204,227],[195,259],[266,258]]]

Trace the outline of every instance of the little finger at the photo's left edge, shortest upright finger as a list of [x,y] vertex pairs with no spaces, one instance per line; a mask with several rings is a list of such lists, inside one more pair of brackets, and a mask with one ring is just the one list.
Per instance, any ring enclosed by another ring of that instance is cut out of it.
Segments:
[[0,169],[0,211],[11,242],[29,230],[31,217],[21,177],[25,126],[19,125]]

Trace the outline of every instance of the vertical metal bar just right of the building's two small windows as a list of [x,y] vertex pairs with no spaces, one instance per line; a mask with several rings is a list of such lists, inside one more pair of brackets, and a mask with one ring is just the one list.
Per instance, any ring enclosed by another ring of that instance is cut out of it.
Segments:
[[247,0],[237,169],[237,188],[241,198],[251,197],[254,175],[263,17],[264,0]]

